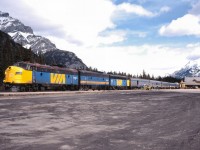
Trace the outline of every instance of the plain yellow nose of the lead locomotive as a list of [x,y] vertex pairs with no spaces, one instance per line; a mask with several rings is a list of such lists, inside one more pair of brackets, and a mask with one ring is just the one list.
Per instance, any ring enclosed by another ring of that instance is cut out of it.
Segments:
[[17,66],[9,66],[5,71],[4,83],[30,84],[32,83],[32,71]]

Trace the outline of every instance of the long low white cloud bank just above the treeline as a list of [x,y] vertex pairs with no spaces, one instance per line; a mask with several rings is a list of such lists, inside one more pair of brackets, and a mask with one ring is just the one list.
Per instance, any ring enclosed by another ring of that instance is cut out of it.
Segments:
[[[56,40],[56,39],[51,39]],[[57,39],[58,41],[60,39]],[[140,74],[144,69],[154,76],[164,76],[183,67],[192,48],[173,48],[164,45],[77,47],[60,41],[61,49],[77,54],[88,66],[101,71],[120,71]],[[182,51],[188,51],[182,53]]]

